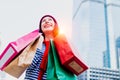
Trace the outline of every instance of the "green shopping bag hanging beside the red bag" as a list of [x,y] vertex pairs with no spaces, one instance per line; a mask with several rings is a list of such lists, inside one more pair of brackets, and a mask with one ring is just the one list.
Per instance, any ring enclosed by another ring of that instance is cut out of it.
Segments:
[[76,76],[60,64],[54,43],[50,41],[47,64],[47,80],[76,80]]

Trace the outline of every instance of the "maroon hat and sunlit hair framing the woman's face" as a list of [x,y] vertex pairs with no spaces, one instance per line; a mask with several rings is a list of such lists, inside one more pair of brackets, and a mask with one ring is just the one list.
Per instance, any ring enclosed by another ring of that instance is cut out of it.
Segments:
[[[54,26],[54,29],[53,29],[53,35],[54,37],[59,33],[59,28],[58,28],[58,24],[57,24],[57,21],[56,19],[51,16],[51,15],[45,15],[43,16],[41,19],[40,19],[40,22],[39,22],[39,32],[40,33],[43,33],[42,29],[41,29],[41,23],[42,23],[42,20],[45,18],[45,17],[51,17],[53,19],[53,21],[55,22],[55,26]],[[43,33],[43,36],[45,37],[44,33]]]

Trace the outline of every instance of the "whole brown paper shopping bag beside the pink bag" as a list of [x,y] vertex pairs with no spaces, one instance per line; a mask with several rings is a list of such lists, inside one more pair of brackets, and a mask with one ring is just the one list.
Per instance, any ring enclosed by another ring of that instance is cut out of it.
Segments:
[[13,77],[19,78],[26,68],[32,63],[36,49],[40,44],[41,37],[31,42],[12,62],[10,62],[4,69],[6,73]]

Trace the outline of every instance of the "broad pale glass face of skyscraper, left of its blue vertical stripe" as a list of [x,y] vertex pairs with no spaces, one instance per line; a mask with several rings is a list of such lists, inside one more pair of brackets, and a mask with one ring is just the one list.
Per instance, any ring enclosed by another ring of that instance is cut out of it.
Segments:
[[107,49],[104,5],[91,0],[75,0],[74,6],[79,7],[73,16],[75,45],[89,66],[102,67],[102,53]]

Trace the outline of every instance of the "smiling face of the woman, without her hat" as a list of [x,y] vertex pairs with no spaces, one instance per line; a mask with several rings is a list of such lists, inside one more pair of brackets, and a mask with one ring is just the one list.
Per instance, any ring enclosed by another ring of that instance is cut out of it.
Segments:
[[44,34],[51,33],[54,30],[55,22],[51,17],[44,17],[41,23],[41,29]]

